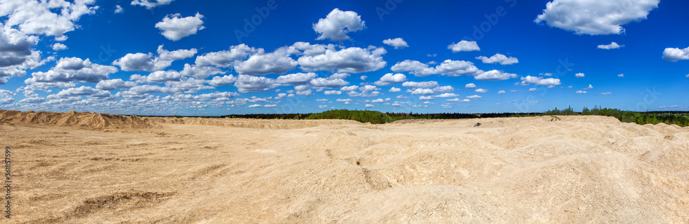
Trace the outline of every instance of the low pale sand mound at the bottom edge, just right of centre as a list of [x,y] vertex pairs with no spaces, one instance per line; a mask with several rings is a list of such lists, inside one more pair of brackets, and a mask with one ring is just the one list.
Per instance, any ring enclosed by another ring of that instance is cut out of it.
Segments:
[[440,185],[364,194],[328,212],[344,223],[494,223],[499,211],[464,187]]

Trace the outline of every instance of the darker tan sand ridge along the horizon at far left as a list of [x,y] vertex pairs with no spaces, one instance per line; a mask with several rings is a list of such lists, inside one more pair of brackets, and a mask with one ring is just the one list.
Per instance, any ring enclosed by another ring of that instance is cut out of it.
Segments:
[[86,128],[152,128],[155,125],[139,116],[99,114],[91,112],[19,112],[0,110],[0,123],[37,123]]

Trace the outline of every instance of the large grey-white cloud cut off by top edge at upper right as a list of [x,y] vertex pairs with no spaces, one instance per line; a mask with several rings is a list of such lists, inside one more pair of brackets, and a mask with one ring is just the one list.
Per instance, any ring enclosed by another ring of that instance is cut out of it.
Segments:
[[535,23],[574,31],[576,34],[621,34],[622,25],[646,19],[659,0],[553,0],[546,3]]

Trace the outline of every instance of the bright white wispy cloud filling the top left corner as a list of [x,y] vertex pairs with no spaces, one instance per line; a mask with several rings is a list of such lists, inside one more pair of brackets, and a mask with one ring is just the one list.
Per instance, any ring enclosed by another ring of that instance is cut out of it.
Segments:
[[36,1],[5,0],[0,3],[0,17],[6,17],[6,27],[18,27],[25,34],[45,34],[61,37],[76,28],[76,21],[84,14],[94,14],[99,6],[94,0]]

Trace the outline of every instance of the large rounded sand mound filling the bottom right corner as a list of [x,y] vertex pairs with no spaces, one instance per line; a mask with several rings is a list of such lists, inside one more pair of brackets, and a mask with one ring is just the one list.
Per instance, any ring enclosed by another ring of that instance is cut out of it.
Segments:
[[526,223],[689,221],[686,182],[621,154],[565,156],[518,170],[500,185],[504,205]]

